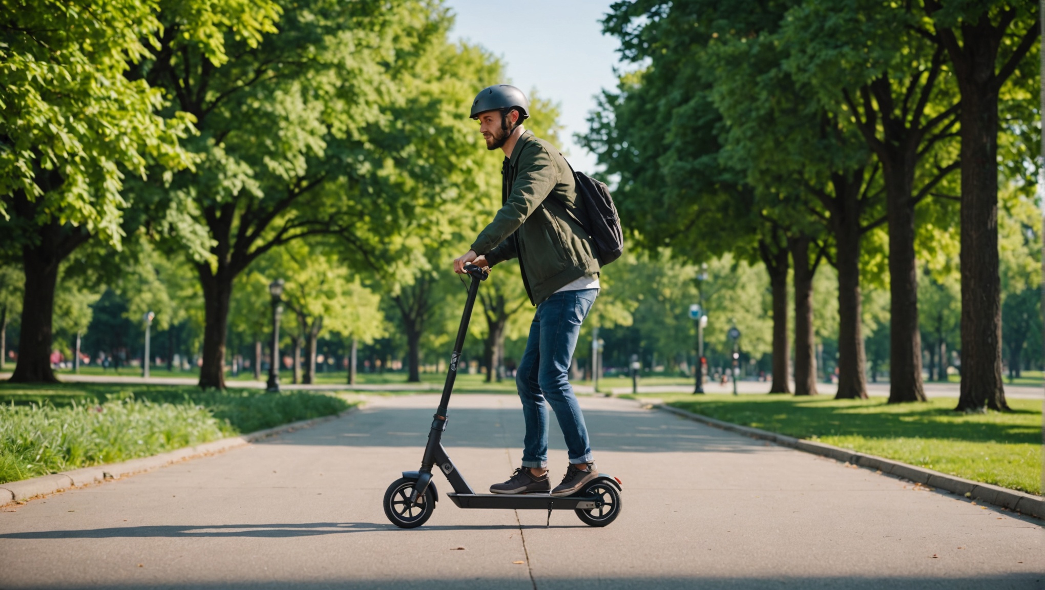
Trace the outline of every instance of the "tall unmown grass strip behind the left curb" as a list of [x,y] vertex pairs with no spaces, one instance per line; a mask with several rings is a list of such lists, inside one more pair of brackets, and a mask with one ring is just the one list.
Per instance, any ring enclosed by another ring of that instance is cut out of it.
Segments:
[[318,392],[0,383],[0,483],[148,456],[350,405]]

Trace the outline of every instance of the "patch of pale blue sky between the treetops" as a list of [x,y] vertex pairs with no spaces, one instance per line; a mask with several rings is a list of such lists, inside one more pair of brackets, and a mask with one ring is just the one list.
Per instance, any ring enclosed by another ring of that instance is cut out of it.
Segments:
[[[614,89],[619,43],[602,34],[611,0],[445,0],[456,15],[450,38],[482,45],[502,58],[510,84],[559,104],[561,139],[574,169],[596,171],[595,156],[577,144],[602,89]],[[490,80],[490,85],[504,80]]]

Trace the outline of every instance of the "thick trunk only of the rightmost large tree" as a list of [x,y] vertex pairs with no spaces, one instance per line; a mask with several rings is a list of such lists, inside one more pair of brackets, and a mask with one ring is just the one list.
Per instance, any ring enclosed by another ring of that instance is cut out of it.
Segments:
[[985,15],[976,26],[963,26],[965,51],[952,55],[963,62],[955,70],[961,92],[961,385],[955,408],[960,411],[1008,409],[1001,375],[993,28]]

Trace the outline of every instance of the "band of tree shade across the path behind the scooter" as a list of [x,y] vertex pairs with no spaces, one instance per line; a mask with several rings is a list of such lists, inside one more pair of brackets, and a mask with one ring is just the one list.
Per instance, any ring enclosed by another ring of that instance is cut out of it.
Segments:
[[[259,445],[345,447],[423,447],[435,408],[381,407],[362,410],[336,422],[336,427],[298,430],[293,436],[258,441]],[[754,452],[763,441],[724,435],[720,430],[683,420],[665,424],[656,411],[584,410],[584,420],[598,451],[624,452]],[[551,447],[564,449],[559,426],[551,412]],[[332,423],[331,423],[332,424]],[[505,448],[522,445],[521,408],[450,408],[443,445]]]

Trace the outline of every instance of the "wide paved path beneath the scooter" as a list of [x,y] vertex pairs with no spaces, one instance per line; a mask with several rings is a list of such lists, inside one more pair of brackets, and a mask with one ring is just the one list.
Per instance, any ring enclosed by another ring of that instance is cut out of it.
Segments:
[[[608,527],[444,499],[400,530],[381,495],[416,469],[436,403],[374,397],[0,513],[0,588],[1045,588],[1040,521],[617,399],[581,400],[600,467],[624,480]],[[445,442],[477,489],[518,465],[520,422],[514,396],[455,398]]]

